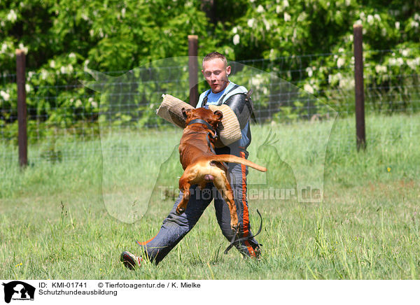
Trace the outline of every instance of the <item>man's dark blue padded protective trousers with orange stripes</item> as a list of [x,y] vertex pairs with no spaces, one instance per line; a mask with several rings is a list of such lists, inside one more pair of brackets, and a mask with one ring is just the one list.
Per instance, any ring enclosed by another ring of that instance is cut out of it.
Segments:
[[[234,153],[232,153],[234,155]],[[239,157],[246,158],[248,153],[246,151],[238,151]],[[248,201],[246,200],[246,175],[248,174],[248,166],[241,164],[228,164],[228,171],[230,174],[230,185],[235,197],[235,204],[237,207],[238,220],[240,225],[239,236],[251,236],[251,226],[249,224]],[[221,227],[223,235],[232,241],[234,232],[230,227],[230,211],[228,204],[218,192],[213,183],[207,183],[207,187],[203,190],[197,185],[190,187],[190,200],[186,211],[181,215],[176,214],[176,206],[183,197],[180,192],[178,199],[170,211],[169,215],[163,221],[162,227],[158,234],[146,242],[139,242],[139,246],[144,249],[149,260],[158,264],[171,251],[184,236],[195,226],[200,219],[204,210],[209,206],[214,199],[214,207],[216,209],[216,218],[218,225]],[[248,239],[235,243],[235,247],[243,255],[255,257],[259,254],[258,242],[255,239]]]

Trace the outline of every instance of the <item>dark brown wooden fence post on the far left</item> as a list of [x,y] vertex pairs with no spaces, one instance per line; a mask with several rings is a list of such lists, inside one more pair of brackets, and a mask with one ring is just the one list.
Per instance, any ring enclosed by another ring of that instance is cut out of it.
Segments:
[[16,50],[16,83],[18,85],[18,146],[19,164],[28,164],[27,104],[25,89],[25,52]]

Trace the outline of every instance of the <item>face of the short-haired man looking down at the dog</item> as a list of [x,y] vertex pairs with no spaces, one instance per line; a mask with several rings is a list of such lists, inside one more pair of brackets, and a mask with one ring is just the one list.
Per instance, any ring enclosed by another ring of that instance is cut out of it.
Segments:
[[211,87],[211,92],[218,93],[228,86],[230,66],[225,67],[222,59],[216,58],[203,63],[202,73]]

